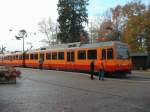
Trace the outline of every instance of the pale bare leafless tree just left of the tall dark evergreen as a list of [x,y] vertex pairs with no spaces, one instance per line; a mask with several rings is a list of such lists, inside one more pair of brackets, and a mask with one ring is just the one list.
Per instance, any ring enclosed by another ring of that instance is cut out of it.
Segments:
[[54,39],[54,32],[56,29],[56,25],[54,24],[54,22],[51,20],[50,17],[48,18],[48,20],[43,19],[38,23],[38,25],[39,25],[39,31],[43,33],[47,38],[47,40],[44,39],[45,41],[42,42],[51,45]]

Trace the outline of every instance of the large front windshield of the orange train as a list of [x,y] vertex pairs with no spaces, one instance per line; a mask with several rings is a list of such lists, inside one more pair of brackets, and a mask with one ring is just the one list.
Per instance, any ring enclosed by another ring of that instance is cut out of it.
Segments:
[[129,51],[126,46],[117,46],[117,59],[129,59]]

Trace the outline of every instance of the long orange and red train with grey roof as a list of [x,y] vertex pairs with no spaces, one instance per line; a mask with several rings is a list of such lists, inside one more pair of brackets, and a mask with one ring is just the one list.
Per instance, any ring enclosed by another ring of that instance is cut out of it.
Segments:
[[98,72],[103,63],[106,74],[131,73],[128,45],[119,41],[61,44],[44,50],[28,51],[25,53],[25,58],[21,58],[20,53],[9,55],[12,60],[6,57],[3,57],[3,62],[0,61],[1,64],[38,68],[39,60],[42,59],[43,68],[46,69],[89,72],[90,63],[94,60],[95,72]]

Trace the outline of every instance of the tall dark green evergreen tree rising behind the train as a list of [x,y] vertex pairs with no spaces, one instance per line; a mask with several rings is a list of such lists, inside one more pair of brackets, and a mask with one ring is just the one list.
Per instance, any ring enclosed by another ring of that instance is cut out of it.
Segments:
[[58,1],[58,39],[62,43],[80,41],[80,33],[84,31],[83,24],[88,22],[86,6],[89,0],[59,0]]

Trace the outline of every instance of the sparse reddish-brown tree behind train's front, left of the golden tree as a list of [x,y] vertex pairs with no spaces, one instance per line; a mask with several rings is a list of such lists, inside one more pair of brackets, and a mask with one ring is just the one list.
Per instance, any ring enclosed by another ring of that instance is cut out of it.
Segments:
[[121,6],[116,6],[114,9],[111,8],[103,14],[104,19],[100,25],[99,41],[120,39],[120,23],[117,19],[117,16],[120,13],[120,9]]

